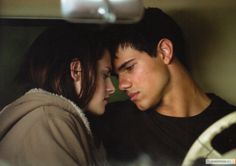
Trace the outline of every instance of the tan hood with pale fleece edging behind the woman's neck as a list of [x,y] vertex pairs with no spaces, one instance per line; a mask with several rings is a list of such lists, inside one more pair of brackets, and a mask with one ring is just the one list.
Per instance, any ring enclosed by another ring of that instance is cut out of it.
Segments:
[[0,140],[7,131],[29,112],[41,106],[57,106],[75,116],[79,116],[84,122],[88,133],[91,135],[89,123],[83,111],[72,101],[42,89],[31,89],[23,96],[7,105],[0,112]]

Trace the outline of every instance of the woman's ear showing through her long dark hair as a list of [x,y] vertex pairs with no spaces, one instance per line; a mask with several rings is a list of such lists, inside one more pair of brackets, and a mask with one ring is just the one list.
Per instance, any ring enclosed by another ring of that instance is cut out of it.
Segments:
[[78,59],[74,59],[70,63],[70,75],[71,78],[74,81],[80,81],[81,80],[81,64]]

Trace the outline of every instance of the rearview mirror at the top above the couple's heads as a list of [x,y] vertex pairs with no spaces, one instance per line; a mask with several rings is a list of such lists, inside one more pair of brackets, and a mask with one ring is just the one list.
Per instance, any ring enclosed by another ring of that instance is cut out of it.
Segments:
[[142,0],[61,0],[63,17],[81,23],[133,23],[142,18]]

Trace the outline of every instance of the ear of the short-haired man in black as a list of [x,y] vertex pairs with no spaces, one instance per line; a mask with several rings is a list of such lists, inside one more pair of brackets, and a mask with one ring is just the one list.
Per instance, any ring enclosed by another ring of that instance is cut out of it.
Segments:
[[170,64],[174,58],[172,42],[166,38],[161,39],[157,45],[157,53],[165,64]]

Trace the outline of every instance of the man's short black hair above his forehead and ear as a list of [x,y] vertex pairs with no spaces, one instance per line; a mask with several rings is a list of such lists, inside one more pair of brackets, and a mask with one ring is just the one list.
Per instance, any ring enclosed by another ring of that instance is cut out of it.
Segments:
[[112,58],[119,47],[131,46],[156,56],[158,42],[167,38],[172,41],[174,55],[185,64],[185,42],[181,28],[162,10],[145,9],[144,16],[136,24],[114,25],[107,30],[107,42]]

